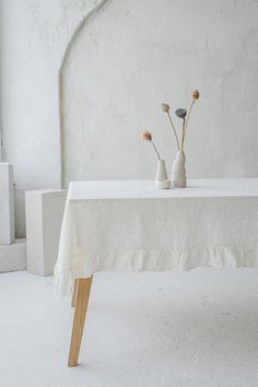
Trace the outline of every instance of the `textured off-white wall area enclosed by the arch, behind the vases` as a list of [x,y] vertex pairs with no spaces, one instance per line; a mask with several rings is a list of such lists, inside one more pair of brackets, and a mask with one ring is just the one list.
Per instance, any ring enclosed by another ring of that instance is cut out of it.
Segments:
[[[110,0],[85,22],[63,71],[64,176],[152,178],[149,128],[171,167],[162,102],[188,107],[191,177],[257,175],[258,3]],[[175,118],[176,124],[179,121]]]

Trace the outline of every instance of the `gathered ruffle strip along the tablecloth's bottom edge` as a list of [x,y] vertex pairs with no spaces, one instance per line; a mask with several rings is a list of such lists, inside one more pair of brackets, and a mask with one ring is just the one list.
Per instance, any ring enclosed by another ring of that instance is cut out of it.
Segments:
[[[125,249],[113,253],[94,253],[89,257],[73,257],[74,267],[55,269],[57,297],[71,295],[75,278],[89,278],[104,271],[167,271],[190,270],[197,267],[215,269],[251,267],[258,268],[258,246],[254,247],[191,247],[175,249]],[[99,263],[99,265],[98,265]]]

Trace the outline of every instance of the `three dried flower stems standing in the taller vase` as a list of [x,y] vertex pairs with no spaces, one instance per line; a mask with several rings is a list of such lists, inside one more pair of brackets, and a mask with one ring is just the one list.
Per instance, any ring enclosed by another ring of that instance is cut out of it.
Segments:
[[187,126],[188,126],[188,121],[189,121],[189,118],[190,118],[191,109],[192,109],[192,106],[194,106],[195,102],[197,99],[199,99],[199,97],[200,97],[200,94],[199,94],[198,90],[194,90],[194,92],[191,93],[191,104],[190,104],[188,114],[187,114],[187,110],[185,108],[179,108],[179,109],[175,110],[176,116],[178,118],[183,119],[183,124],[181,124],[181,140],[180,140],[180,142],[179,142],[179,139],[178,139],[178,136],[177,136],[177,132],[176,132],[175,125],[174,125],[174,122],[172,120],[172,117],[171,117],[171,114],[169,114],[171,107],[167,104],[162,104],[162,110],[164,113],[166,113],[167,116],[168,116],[168,119],[169,119],[169,122],[171,122],[171,126],[172,126],[172,129],[173,129],[173,132],[174,132],[174,136],[175,136],[175,139],[176,139],[176,144],[177,144],[177,150],[178,151],[181,151],[181,152],[184,151],[186,131],[187,131]]

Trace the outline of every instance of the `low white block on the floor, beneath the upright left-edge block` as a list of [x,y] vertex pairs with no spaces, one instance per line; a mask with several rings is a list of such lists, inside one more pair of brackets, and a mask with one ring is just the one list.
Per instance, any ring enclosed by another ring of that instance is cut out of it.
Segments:
[[0,272],[26,269],[26,239],[15,239],[10,246],[0,245]]

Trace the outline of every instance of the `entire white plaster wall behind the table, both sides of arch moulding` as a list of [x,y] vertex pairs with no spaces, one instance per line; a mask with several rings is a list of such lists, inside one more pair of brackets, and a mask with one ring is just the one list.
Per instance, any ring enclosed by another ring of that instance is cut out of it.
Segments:
[[[14,166],[19,236],[24,190],[60,186],[58,70],[78,23],[99,3],[1,1],[0,124],[3,160]],[[201,99],[187,140],[188,175],[256,176],[257,20],[251,0],[107,0],[62,71],[67,178],[152,177],[143,128],[169,165],[175,145],[160,103],[185,106],[194,87]]]

